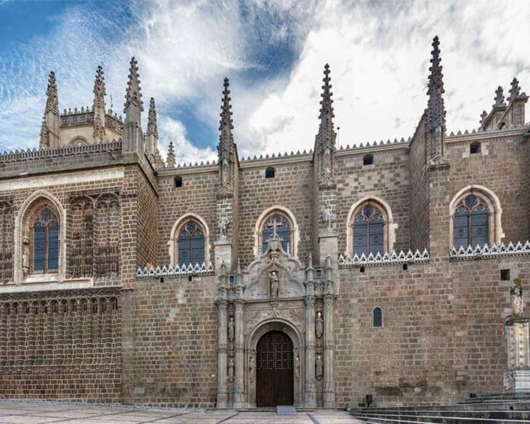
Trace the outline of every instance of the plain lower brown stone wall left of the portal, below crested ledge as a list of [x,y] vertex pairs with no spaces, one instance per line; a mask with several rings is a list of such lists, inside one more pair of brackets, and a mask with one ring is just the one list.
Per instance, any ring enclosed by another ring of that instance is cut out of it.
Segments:
[[123,295],[125,403],[213,407],[215,276],[136,281]]

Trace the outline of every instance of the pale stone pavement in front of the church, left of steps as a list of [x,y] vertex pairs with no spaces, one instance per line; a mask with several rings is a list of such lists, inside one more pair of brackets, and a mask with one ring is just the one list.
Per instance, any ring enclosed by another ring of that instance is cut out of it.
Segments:
[[358,424],[343,411],[274,412],[187,411],[170,408],[97,406],[59,402],[0,401],[0,424]]

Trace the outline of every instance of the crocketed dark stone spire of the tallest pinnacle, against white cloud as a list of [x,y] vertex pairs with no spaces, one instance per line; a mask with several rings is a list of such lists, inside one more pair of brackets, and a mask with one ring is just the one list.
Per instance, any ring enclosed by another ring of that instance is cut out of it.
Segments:
[[445,132],[445,106],[442,94],[444,91],[444,81],[440,58],[440,40],[438,36],[432,40],[432,57],[430,59],[430,75],[428,80],[427,95],[427,126],[430,131],[440,127],[442,133]]

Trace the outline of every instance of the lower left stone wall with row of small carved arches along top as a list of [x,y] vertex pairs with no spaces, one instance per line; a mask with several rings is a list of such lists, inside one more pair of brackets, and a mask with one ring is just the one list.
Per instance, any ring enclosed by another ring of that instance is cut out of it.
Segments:
[[119,402],[117,288],[0,295],[0,398]]

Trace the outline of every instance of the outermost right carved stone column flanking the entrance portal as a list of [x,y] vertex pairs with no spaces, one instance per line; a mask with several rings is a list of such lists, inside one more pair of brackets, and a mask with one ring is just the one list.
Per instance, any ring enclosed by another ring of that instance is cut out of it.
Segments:
[[333,300],[324,295],[324,408],[335,407]]

